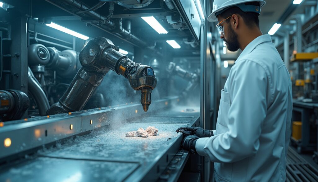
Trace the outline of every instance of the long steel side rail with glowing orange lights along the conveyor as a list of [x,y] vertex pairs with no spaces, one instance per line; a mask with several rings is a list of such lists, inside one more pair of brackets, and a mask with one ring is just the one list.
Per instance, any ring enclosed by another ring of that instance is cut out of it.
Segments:
[[[155,102],[156,108],[153,108],[151,112],[171,107],[176,102],[177,97],[158,100]],[[166,103],[168,104],[166,105]],[[140,112],[139,109],[140,105],[133,103],[12,121],[15,124],[5,124],[4,127],[0,128],[0,141],[5,138],[10,138],[12,141],[8,148],[0,145],[0,161],[4,160],[4,157],[14,157],[14,154],[18,152],[25,152],[121,120],[140,117],[143,112]],[[70,129],[71,124],[73,129]],[[22,139],[21,135],[23,135]]]

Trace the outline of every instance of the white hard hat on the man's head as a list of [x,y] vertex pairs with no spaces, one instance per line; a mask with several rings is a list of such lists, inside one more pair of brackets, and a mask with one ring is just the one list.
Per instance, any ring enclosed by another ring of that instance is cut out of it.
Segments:
[[[252,6],[252,5],[244,5],[244,3],[249,3],[249,2],[259,2],[259,9]],[[263,7],[266,4],[264,0],[214,0],[213,2],[213,9],[212,13],[208,16],[208,21],[210,22],[215,22],[218,21],[218,18],[216,14],[220,11],[223,11],[229,7],[232,6],[238,6],[242,11],[245,12],[260,12],[260,8]],[[254,7],[253,10],[251,10],[251,7]]]

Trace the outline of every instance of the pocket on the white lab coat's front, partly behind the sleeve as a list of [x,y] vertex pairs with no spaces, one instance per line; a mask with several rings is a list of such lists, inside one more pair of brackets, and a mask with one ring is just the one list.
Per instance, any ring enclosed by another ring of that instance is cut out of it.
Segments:
[[218,120],[216,127],[216,135],[229,131],[227,125],[229,123],[228,112],[231,106],[230,94],[224,89],[221,92],[221,100],[218,112]]

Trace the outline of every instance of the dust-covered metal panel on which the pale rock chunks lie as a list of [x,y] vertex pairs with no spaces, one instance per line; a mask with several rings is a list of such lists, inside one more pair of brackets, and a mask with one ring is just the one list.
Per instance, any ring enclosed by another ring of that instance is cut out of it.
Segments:
[[[128,131],[139,127],[146,129],[154,126],[159,129],[158,135],[142,137],[125,137]],[[125,161],[151,161],[180,134],[176,128],[184,124],[129,123],[116,129],[93,131],[89,135],[79,136],[72,142],[46,152],[42,156],[72,157],[89,159],[112,159]],[[170,139],[169,139],[170,138]]]

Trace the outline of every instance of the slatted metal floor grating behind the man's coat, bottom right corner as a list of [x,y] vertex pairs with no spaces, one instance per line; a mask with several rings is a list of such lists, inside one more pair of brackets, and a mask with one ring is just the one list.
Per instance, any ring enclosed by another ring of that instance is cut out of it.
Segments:
[[297,152],[288,149],[287,166],[286,166],[287,182],[317,182],[318,170],[303,159]]

